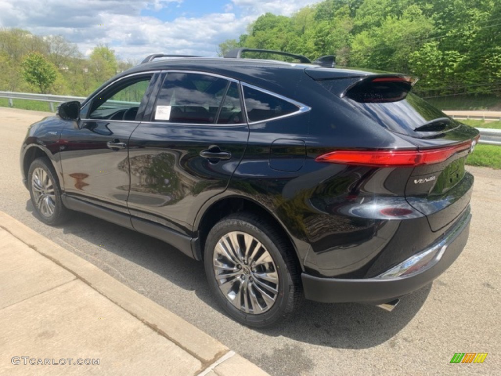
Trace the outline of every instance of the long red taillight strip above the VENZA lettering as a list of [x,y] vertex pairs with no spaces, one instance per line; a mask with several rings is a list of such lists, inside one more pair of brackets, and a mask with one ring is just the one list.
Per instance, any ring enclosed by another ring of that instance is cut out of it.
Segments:
[[471,144],[469,140],[454,146],[424,150],[336,150],[319,155],[315,160],[374,167],[413,167],[443,162],[451,155],[469,149]]

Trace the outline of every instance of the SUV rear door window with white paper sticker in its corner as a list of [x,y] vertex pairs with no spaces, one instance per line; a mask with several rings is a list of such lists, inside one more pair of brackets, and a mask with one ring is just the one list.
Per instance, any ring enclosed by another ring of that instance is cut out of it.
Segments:
[[168,73],[155,108],[155,121],[214,124],[228,80],[196,73]]

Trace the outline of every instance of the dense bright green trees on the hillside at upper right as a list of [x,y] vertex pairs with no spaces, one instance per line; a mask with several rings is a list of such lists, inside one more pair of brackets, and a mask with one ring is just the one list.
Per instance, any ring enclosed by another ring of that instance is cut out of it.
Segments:
[[236,47],[410,74],[424,97],[501,94],[500,0],[326,0],[261,16],[219,54]]

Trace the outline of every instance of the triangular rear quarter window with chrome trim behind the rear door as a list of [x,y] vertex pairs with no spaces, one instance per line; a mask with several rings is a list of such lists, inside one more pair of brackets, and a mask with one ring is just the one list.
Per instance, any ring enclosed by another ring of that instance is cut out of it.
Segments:
[[243,86],[243,97],[250,122],[269,120],[299,110],[291,102],[248,86]]

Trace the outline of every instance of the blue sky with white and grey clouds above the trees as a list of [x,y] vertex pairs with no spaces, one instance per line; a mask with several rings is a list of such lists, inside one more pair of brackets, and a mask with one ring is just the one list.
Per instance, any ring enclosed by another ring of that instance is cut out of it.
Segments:
[[321,0],[0,0],[0,27],[62,35],[90,54],[99,44],[123,60],[152,53],[216,56],[259,16],[290,16]]

